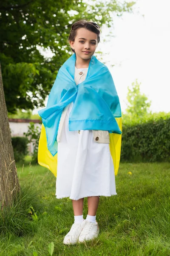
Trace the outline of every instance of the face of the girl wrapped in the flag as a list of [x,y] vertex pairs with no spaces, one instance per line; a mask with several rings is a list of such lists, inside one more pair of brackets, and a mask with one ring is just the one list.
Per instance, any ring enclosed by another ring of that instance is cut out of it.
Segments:
[[76,56],[88,60],[96,50],[97,35],[85,28],[77,29],[75,40],[70,41],[70,46],[74,49]]

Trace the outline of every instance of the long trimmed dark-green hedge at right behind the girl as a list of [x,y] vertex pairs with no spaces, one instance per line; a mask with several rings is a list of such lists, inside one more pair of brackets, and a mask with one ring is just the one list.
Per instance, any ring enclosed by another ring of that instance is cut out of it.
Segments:
[[170,161],[170,116],[123,125],[122,161]]

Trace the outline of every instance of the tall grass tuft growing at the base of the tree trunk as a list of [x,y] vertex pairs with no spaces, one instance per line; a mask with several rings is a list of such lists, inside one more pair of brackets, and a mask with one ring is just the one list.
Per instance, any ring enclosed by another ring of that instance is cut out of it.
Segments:
[[28,209],[41,210],[42,205],[37,199],[38,192],[33,184],[23,186],[13,205],[0,211],[0,235],[24,236],[34,233],[37,229],[37,221],[32,218],[35,212],[30,213]]

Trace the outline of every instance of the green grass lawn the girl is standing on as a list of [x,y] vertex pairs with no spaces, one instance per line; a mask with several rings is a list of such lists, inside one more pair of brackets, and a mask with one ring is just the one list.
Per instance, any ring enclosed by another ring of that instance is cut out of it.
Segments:
[[[54,175],[29,164],[17,170],[23,196],[28,192],[24,207],[32,205],[32,215],[36,212],[38,219],[25,214],[34,225],[23,227],[17,236],[10,230],[9,218],[8,231],[1,234],[0,256],[33,256],[33,252],[48,256],[52,241],[53,256],[170,256],[169,163],[122,163],[116,176],[117,195],[100,197],[99,236],[71,246],[62,241],[74,222],[72,203],[69,198],[55,198]],[[85,198],[84,218],[87,212]]]

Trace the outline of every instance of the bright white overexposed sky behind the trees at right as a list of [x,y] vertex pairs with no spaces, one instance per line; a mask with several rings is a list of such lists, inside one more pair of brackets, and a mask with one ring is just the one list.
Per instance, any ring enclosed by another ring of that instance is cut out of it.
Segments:
[[113,27],[102,27],[97,50],[111,71],[122,111],[127,87],[138,79],[151,111],[169,112],[170,0],[137,0],[133,9],[122,17],[114,15]]

